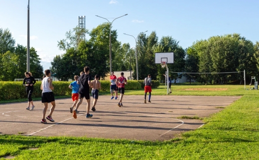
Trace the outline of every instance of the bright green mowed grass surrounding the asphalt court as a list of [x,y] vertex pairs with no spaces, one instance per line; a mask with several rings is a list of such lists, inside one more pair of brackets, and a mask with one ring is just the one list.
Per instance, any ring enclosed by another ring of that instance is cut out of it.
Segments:
[[[249,87],[249,86],[247,86]],[[169,141],[129,141],[87,137],[0,136],[0,157],[15,160],[258,160],[259,90],[234,85],[172,85],[172,95],[242,96],[203,119],[205,125]],[[197,90],[186,90],[194,88]],[[227,88],[223,91],[199,88]],[[127,91],[125,94],[143,91]],[[164,95],[164,86],[152,95]],[[198,98],[198,97],[197,97]],[[212,102],[213,103],[213,102]],[[98,133],[97,133],[98,134]],[[30,148],[38,148],[30,150]],[[2,158],[3,159],[3,158]]]

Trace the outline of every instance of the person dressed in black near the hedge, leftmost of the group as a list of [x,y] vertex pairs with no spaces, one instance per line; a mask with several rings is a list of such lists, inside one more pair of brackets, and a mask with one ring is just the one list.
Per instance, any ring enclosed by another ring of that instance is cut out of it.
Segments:
[[33,85],[36,83],[35,79],[32,77],[31,72],[25,72],[25,78],[23,79],[23,86],[26,86],[26,93],[28,96],[28,107],[26,109],[30,110],[30,104],[31,109],[33,109],[35,106],[33,105],[33,101],[31,99],[31,95],[33,93]]

